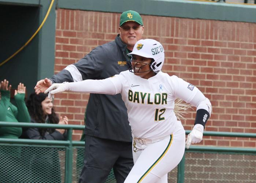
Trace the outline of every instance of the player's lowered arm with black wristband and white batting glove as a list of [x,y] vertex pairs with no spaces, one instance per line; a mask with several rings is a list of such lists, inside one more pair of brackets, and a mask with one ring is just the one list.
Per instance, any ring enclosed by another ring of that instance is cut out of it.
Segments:
[[208,98],[206,98],[201,91],[197,91],[196,96],[190,102],[192,105],[197,107],[196,119],[194,127],[186,141],[186,147],[189,149],[191,143],[199,143],[203,139],[204,127],[211,116],[212,105]]

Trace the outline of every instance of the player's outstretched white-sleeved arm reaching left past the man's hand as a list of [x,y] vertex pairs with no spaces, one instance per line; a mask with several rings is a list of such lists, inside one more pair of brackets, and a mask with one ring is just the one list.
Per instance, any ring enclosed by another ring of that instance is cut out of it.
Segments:
[[53,94],[63,91],[75,91],[81,93],[99,93],[99,94],[117,94],[115,85],[110,78],[93,80],[87,79],[79,82],[64,82],[54,83],[44,93],[48,93],[48,97],[51,98]]

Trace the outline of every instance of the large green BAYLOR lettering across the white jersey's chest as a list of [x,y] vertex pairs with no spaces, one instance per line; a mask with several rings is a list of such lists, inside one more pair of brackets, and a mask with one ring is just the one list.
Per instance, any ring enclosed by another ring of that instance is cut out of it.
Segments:
[[167,104],[167,93],[156,93],[152,99],[150,93],[143,93],[139,91],[128,91],[128,100],[141,104]]

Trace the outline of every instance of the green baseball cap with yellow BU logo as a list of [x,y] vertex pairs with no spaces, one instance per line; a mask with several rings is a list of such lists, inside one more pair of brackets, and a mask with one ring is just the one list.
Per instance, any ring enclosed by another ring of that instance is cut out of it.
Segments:
[[137,22],[138,24],[143,26],[142,18],[140,14],[138,14],[138,12],[136,11],[129,10],[121,14],[120,26],[122,26],[125,22],[129,22],[129,21]]

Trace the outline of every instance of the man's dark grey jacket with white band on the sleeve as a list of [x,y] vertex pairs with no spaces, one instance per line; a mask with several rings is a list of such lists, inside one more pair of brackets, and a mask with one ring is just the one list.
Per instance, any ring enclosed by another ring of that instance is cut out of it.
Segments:
[[[118,35],[115,41],[97,46],[74,63],[75,69],[64,69],[50,79],[53,83],[62,83],[105,79],[119,74],[128,69],[126,47]],[[85,119],[87,135],[123,142],[132,140],[127,109],[120,94],[90,94]]]

